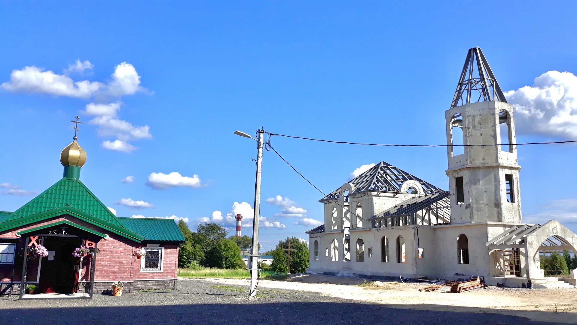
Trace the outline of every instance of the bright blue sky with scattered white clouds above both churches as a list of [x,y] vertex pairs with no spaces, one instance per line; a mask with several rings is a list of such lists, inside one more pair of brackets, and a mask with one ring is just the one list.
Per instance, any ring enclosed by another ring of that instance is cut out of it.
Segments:
[[[81,180],[118,216],[226,224],[227,213],[253,204],[256,146],[235,130],[444,144],[444,111],[474,46],[513,91],[518,142],[577,139],[575,6],[5,2],[0,209],[19,208],[62,176],[59,153],[80,115]],[[448,189],[443,148],[278,137],[272,145],[325,193],[380,161]],[[554,218],[577,231],[575,146],[518,153],[523,220]],[[323,220],[322,195],[273,152],[263,165],[261,244],[306,238]],[[121,182],[127,176],[132,183]],[[265,203],[276,195],[276,205]]]

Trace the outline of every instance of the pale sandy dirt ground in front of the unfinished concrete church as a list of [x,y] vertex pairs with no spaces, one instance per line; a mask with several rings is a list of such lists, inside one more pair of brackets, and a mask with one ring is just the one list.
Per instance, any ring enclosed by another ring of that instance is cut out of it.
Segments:
[[[205,279],[230,285],[249,285],[242,279]],[[369,280],[370,281],[370,280]],[[425,292],[426,283],[381,282],[363,285],[365,279],[298,274],[284,281],[260,280],[263,288],[309,291],[324,296],[372,302],[393,308],[429,311],[492,312],[528,317],[541,322],[577,323],[577,289],[521,289],[486,287],[460,294],[449,287]],[[359,286],[361,285],[361,286]]]

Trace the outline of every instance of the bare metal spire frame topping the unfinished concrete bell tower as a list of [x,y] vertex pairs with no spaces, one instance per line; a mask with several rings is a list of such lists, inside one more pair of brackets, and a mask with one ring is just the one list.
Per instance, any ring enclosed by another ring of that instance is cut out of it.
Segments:
[[[478,96],[478,97],[477,97]],[[507,102],[503,91],[479,47],[469,49],[451,108],[471,102]]]

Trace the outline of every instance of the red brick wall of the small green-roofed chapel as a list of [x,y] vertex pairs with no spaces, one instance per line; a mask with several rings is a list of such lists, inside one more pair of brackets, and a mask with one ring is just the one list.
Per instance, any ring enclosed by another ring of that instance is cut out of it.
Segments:
[[[178,244],[160,243],[160,246],[164,247],[162,272],[141,272],[141,260],[138,260],[136,257],[132,256],[134,250],[141,247],[140,243],[130,241],[127,238],[113,234],[110,231],[96,227],[90,223],[68,215],[40,221],[38,223],[29,224],[27,226],[8,232],[3,232],[0,234],[0,241],[1,238],[18,238],[16,237],[17,231],[27,230],[30,228],[43,226],[44,224],[55,223],[61,220],[69,220],[80,226],[102,232],[103,234],[108,234],[110,237],[108,239],[100,239],[100,241],[98,241],[98,249],[100,250],[100,254],[98,254],[96,257],[95,281],[174,279],[177,277]],[[19,238],[17,250],[24,247],[24,245],[25,237]],[[16,256],[16,263],[14,265],[0,265],[0,278],[2,278],[2,281],[9,281],[10,278],[12,278],[12,270],[14,267],[16,267],[14,269],[14,281],[20,281],[22,276],[22,259],[22,256]],[[90,279],[90,275],[88,273],[88,264],[88,260],[83,262],[83,269],[80,272],[80,280],[88,281]],[[36,281],[37,269],[38,260],[35,260],[29,267],[28,281]]]

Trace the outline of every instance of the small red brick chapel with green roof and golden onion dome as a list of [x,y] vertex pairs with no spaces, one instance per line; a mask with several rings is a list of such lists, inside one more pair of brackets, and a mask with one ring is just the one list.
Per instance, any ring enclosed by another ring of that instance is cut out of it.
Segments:
[[119,280],[125,293],[175,289],[184,241],[177,224],[115,216],[80,181],[87,155],[76,140],[60,155],[62,179],[20,209],[0,212],[0,294],[22,298],[35,285],[36,293],[92,297]]

